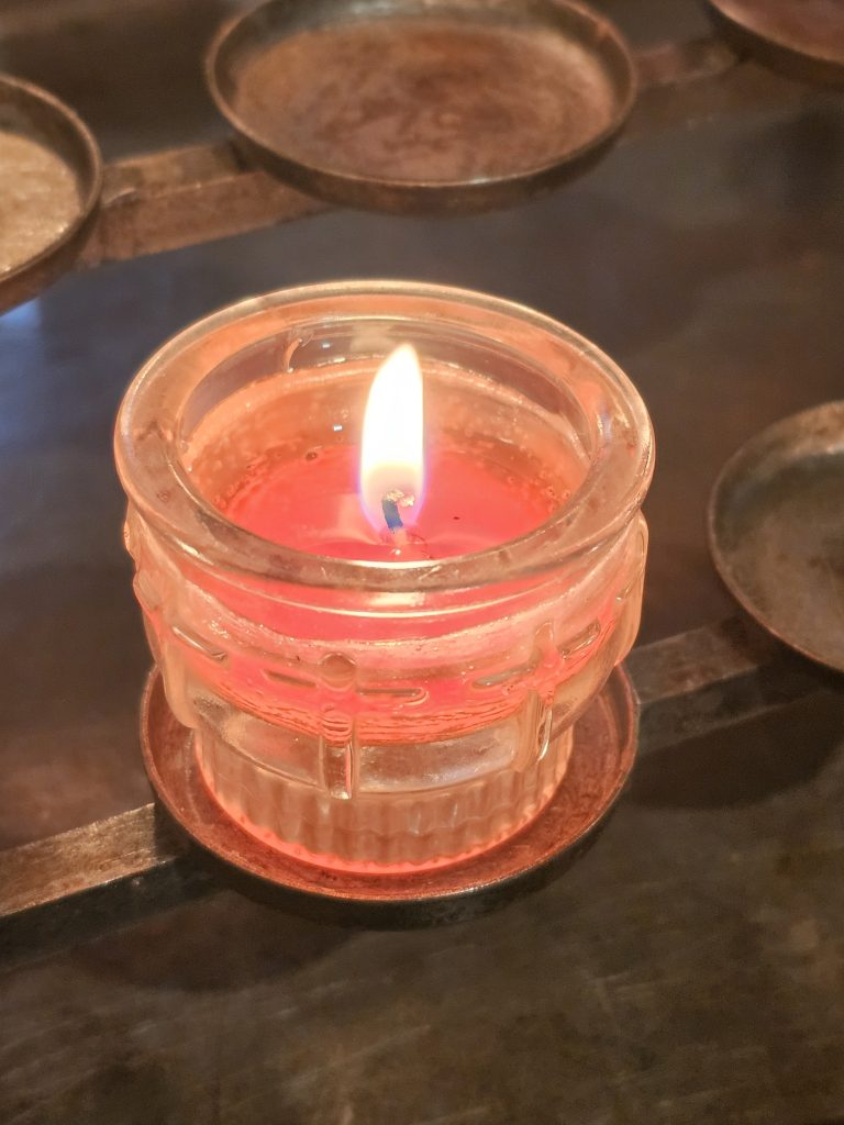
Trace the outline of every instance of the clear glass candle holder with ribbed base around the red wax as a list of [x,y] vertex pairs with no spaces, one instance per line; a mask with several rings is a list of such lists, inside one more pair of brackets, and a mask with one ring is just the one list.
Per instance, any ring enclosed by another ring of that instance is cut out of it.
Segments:
[[[367,388],[403,342],[429,441],[514,489],[517,510],[539,504],[540,522],[398,561],[239,524],[226,497],[268,458],[284,482],[359,442]],[[641,605],[652,430],[598,349],[458,289],[288,289],[165,344],[126,394],[116,458],[168,701],[246,831],[323,866],[407,872],[541,811]]]

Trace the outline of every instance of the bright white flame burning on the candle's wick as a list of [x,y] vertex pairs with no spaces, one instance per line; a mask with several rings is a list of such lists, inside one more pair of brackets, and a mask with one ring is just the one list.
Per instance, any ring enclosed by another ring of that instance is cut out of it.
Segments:
[[419,514],[423,447],[422,371],[415,349],[401,344],[378,368],[363,414],[360,501],[377,531]]

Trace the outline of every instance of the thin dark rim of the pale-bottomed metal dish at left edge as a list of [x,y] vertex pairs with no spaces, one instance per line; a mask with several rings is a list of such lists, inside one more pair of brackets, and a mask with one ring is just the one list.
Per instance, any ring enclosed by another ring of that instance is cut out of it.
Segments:
[[[83,187],[83,198],[75,217],[62,233],[47,243],[37,254],[0,274],[0,312],[36,297],[73,264],[84,245],[100,196],[102,195],[104,166],[99,145],[82,118],[48,90],[12,74],[0,73],[0,104],[9,92],[16,105],[26,100],[37,101],[55,120],[71,132],[81,145],[88,169],[72,165]],[[23,98],[21,98],[23,96]]]

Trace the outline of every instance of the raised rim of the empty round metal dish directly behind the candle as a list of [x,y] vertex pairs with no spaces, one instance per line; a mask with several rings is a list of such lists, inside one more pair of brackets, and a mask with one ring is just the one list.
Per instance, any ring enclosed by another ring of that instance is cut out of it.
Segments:
[[[223,22],[205,55],[208,92],[219,114],[228,122],[242,144],[261,163],[293,187],[339,206],[398,214],[466,214],[504,207],[577,174],[596,162],[612,145],[627,123],[638,96],[638,70],[634,52],[616,24],[581,0],[548,0],[555,8],[568,10],[589,20],[594,28],[592,50],[601,44],[623,61],[626,89],[612,120],[577,148],[535,168],[484,180],[399,180],[345,172],[293,156],[261,137],[235,110],[223,92],[222,56],[231,38],[248,22],[272,8],[285,9],[289,0],[263,0],[262,3]],[[341,4],[338,3],[338,9]],[[350,4],[352,7],[352,4]],[[389,18],[389,12],[386,18]],[[341,22],[341,20],[338,20]]]

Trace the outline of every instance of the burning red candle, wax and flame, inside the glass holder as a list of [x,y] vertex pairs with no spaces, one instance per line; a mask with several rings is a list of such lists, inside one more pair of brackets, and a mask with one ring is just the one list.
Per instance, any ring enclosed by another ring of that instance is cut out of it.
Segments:
[[[445,378],[452,381],[454,372]],[[515,539],[542,523],[583,478],[573,449],[555,488],[524,467],[520,472],[490,435],[475,442],[470,431],[455,434],[451,426],[425,450],[422,388],[419,357],[402,344],[372,380],[359,442],[349,440],[348,431],[358,429],[352,420],[332,425],[298,457],[279,458],[269,429],[269,456],[254,459],[215,503],[232,522],[275,542],[334,558],[406,562]],[[252,393],[246,388],[244,399]],[[231,440],[237,416],[250,418],[245,405],[227,402],[225,426],[213,428],[210,452],[194,462],[197,477],[218,456],[216,433],[225,428]]]

